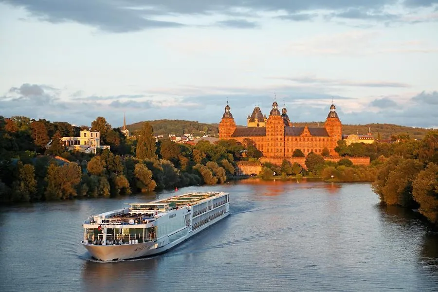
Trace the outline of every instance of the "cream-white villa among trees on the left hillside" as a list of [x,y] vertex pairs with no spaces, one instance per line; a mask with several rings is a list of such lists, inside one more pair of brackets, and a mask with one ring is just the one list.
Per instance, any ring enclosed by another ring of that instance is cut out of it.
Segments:
[[64,146],[69,150],[96,154],[96,149],[110,149],[110,146],[100,145],[100,132],[82,130],[80,137],[62,137]]

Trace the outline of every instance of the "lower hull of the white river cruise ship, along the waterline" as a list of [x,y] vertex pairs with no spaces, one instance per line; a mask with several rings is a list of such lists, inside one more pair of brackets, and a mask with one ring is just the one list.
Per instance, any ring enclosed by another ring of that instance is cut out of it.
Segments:
[[82,241],[81,243],[91,254],[92,257],[104,262],[154,256],[154,255],[162,254],[168,251],[169,249],[177,246],[181,242],[201,232],[205,228],[213,225],[214,223],[220,221],[221,219],[224,219],[229,214],[230,212],[228,211],[220,215],[219,217],[212,219],[209,222],[201,225],[195,230],[188,231],[188,228],[185,228],[180,231],[180,232],[185,231],[185,235],[171,242],[169,240],[169,236],[166,236],[166,237],[158,238],[155,241],[121,244],[121,245],[93,245],[93,244],[85,243],[84,241]]

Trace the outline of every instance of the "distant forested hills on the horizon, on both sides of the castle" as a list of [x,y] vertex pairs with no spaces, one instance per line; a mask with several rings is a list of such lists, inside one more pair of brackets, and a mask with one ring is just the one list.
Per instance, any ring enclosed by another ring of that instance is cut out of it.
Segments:
[[[199,123],[198,121],[185,121],[185,120],[154,120],[144,121],[135,124],[127,125],[128,130],[131,133],[139,130],[142,124],[148,122],[154,129],[155,135],[169,135],[174,134],[176,136],[183,136],[183,134],[192,134],[193,136],[204,135],[217,135],[218,123],[207,124]],[[293,123],[296,127],[323,127],[324,122],[309,122],[309,123]],[[237,126],[246,127],[246,126]],[[389,139],[391,135],[408,134],[411,139],[423,139],[429,129],[425,128],[412,128],[393,124],[366,124],[366,125],[342,125],[342,133],[366,135],[368,128],[371,130],[374,138],[377,139],[378,134],[382,139]]]

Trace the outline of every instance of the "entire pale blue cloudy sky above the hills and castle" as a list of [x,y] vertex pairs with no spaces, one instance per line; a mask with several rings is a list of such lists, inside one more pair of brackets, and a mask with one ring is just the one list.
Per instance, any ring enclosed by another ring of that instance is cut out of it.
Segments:
[[438,128],[438,0],[0,0],[0,115]]

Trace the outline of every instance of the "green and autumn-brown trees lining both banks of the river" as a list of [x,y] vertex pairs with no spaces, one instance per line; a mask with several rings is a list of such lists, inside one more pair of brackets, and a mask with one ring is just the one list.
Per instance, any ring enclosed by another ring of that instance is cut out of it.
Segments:
[[[235,178],[236,161],[257,161],[261,152],[254,141],[200,141],[196,145],[158,143],[153,129],[144,123],[127,139],[98,117],[91,129],[101,133],[101,144],[111,150],[96,155],[67,151],[61,137],[77,136],[85,126],[65,122],[0,117],[0,202],[32,202],[129,195],[188,185],[224,183]],[[383,204],[418,209],[437,223],[438,132],[423,140],[407,135],[391,144],[351,144],[341,140],[336,151],[345,159],[337,163],[310,153],[306,167],[284,160],[281,165],[265,163],[257,174],[262,179],[321,177],[332,182],[373,182]],[[50,146],[47,146],[52,140]],[[304,156],[299,150],[293,156]],[[369,156],[370,165],[352,165],[349,156]],[[62,157],[63,159],[56,159]]]

